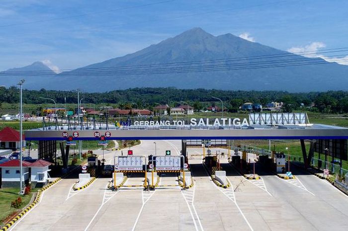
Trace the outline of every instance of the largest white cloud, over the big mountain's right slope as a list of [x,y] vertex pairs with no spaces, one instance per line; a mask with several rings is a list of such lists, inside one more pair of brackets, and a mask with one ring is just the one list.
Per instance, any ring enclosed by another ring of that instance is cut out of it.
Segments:
[[325,48],[326,44],[322,42],[312,42],[304,47],[291,47],[288,52],[296,53],[308,58],[322,58],[327,62],[338,63],[342,65],[348,65],[348,56],[345,57],[327,57],[318,53],[319,49]]

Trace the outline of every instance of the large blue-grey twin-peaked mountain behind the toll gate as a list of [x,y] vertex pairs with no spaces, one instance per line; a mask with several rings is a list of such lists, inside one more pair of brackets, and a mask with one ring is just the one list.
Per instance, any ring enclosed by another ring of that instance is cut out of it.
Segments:
[[[317,63],[320,65],[303,65]],[[49,81],[25,87],[99,92],[168,86],[306,92],[347,90],[347,74],[348,66],[193,28],[133,54],[52,75]]]

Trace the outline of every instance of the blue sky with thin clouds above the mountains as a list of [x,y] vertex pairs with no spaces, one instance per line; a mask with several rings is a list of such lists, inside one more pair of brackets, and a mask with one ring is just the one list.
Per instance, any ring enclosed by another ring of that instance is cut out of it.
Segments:
[[347,9],[347,0],[1,0],[0,70],[83,67],[193,27],[293,52],[348,47]]

